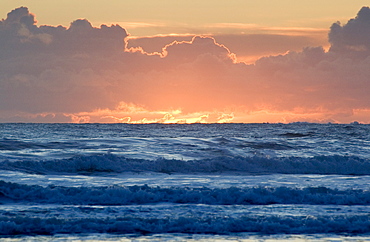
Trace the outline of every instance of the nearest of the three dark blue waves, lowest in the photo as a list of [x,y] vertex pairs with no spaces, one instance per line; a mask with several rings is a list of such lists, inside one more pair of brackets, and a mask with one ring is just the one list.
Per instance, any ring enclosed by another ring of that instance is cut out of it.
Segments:
[[0,234],[30,235],[58,233],[202,233],[229,234],[258,232],[262,234],[314,234],[370,232],[367,215],[358,216],[255,216],[238,218],[199,216],[191,217],[116,217],[116,218],[32,218],[0,217]]

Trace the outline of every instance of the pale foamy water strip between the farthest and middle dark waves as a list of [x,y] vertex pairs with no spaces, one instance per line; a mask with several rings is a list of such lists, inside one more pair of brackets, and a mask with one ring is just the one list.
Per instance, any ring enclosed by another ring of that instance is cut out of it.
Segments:
[[143,186],[190,188],[251,187],[330,187],[337,190],[367,190],[370,176],[312,174],[166,174],[166,173],[96,173],[96,174],[30,174],[1,171],[0,180],[24,185],[63,187]]

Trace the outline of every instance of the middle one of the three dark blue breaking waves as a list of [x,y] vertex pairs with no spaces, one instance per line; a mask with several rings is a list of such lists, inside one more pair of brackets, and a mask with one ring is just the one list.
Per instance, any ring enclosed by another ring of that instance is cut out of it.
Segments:
[[153,203],[209,205],[370,205],[370,191],[327,187],[191,188],[106,186],[63,187],[21,185],[0,181],[3,203],[31,202],[70,205],[132,205]]

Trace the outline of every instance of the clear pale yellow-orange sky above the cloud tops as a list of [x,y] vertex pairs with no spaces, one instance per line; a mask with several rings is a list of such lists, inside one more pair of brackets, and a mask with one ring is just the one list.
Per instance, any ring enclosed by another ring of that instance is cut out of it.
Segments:
[[264,28],[321,28],[346,21],[367,0],[12,0],[0,2],[0,14],[26,6],[37,14],[39,24],[68,26],[86,18],[95,26],[119,23],[135,36],[168,33],[204,34],[217,29],[235,33]]

